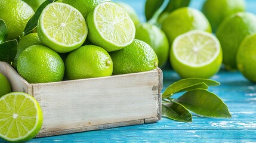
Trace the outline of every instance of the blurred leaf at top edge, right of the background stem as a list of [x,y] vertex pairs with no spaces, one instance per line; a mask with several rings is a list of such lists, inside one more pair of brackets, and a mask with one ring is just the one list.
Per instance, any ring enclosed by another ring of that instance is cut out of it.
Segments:
[[181,7],[188,7],[190,0],[170,0],[163,12],[171,13]]

